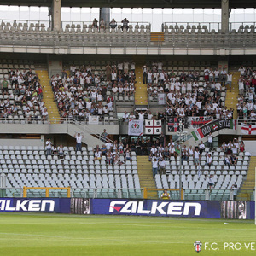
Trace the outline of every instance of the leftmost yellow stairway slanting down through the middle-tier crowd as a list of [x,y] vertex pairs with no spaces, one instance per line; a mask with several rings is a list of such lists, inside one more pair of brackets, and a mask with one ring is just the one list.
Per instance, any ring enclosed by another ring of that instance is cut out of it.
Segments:
[[44,96],[44,105],[48,110],[49,114],[49,123],[56,124],[60,122],[61,116],[57,107],[57,104],[54,100],[54,93],[51,89],[51,85],[49,83],[49,74],[46,69],[36,70],[38,74],[38,78],[40,79],[40,83],[43,88],[43,96]]

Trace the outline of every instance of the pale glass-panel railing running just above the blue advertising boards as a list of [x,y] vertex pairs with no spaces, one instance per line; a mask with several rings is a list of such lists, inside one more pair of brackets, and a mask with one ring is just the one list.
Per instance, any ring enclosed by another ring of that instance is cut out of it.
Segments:
[[[49,197],[67,197],[67,192],[63,192],[61,188],[58,190],[49,190]],[[153,199],[160,199],[164,189],[157,189]],[[168,189],[170,190],[170,189]],[[171,189],[170,200],[180,200],[180,192],[178,189]],[[196,201],[254,201],[255,189],[183,189],[183,200]],[[131,198],[143,199],[144,189],[109,189],[109,188],[71,188],[71,197],[83,198]],[[23,188],[0,188],[0,197],[23,197]],[[27,197],[45,197],[45,189],[42,191],[28,190]],[[150,195],[149,197],[150,198]]]

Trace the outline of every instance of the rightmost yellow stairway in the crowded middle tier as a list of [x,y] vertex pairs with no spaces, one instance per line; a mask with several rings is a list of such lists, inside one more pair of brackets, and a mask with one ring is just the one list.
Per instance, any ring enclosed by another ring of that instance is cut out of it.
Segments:
[[231,92],[230,92],[230,88],[227,88],[225,106],[227,106],[228,109],[234,108],[233,119],[237,119],[236,103],[237,103],[237,96],[239,96],[237,83],[238,83],[238,79],[240,78],[240,72],[234,72],[232,74],[233,75],[232,75]]

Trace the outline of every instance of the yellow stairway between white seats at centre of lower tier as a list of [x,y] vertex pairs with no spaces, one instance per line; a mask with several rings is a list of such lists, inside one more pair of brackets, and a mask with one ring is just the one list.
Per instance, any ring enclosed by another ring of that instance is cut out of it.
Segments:
[[[152,164],[148,161],[148,156],[137,155],[137,173],[142,189],[156,189],[152,172]],[[158,198],[157,192],[148,191],[148,198]]]

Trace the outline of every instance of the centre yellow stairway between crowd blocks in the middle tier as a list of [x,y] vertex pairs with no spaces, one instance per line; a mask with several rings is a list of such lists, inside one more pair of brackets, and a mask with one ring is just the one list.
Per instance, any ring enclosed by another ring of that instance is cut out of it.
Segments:
[[[140,61],[140,62],[138,62]],[[136,91],[135,91],[135,105],[136,106],[147,106],[148,108],[148,93],[147,84],[143,84],[143,63],[142,60],[136,61]]]

